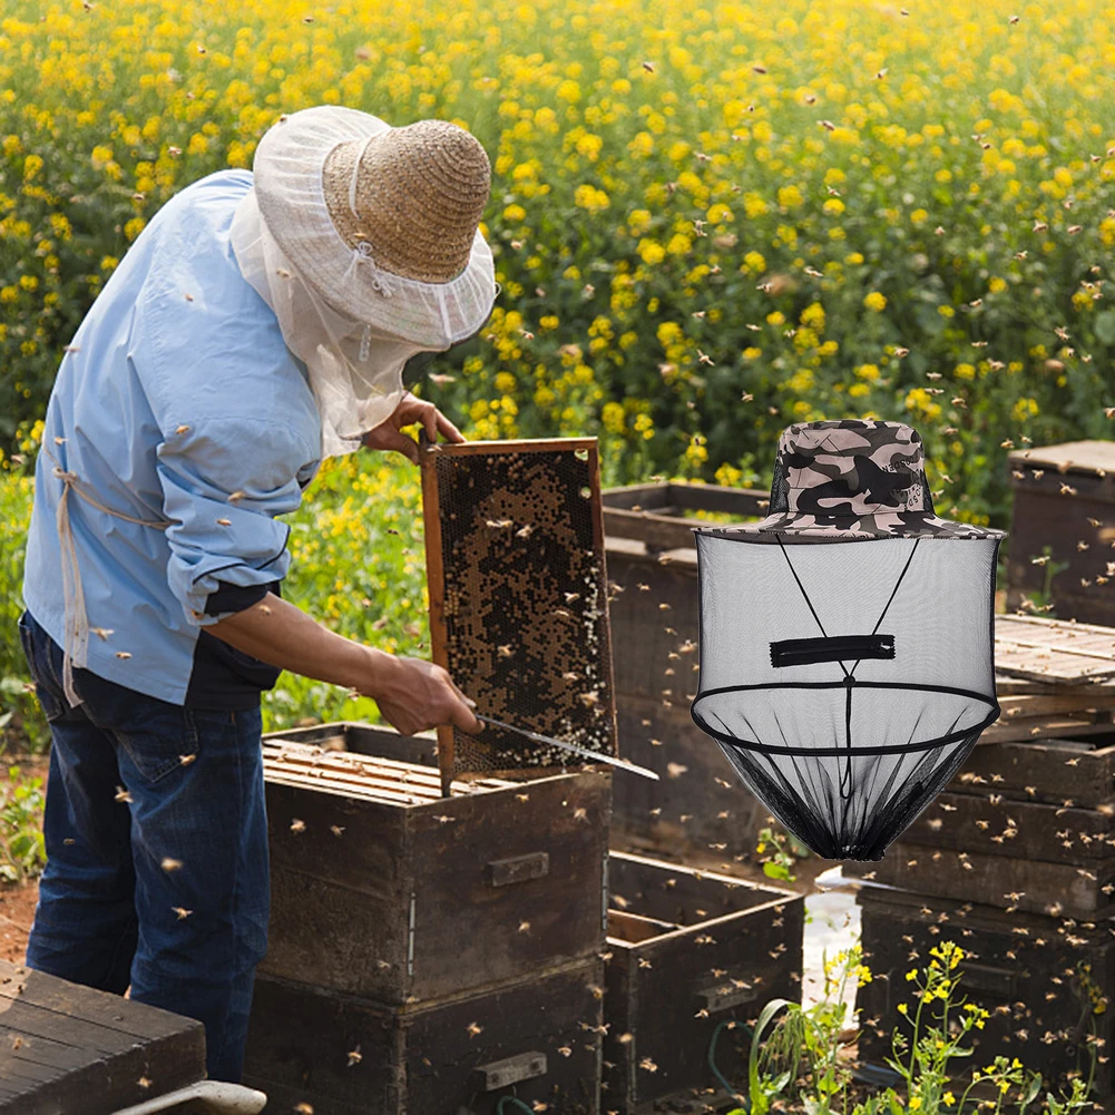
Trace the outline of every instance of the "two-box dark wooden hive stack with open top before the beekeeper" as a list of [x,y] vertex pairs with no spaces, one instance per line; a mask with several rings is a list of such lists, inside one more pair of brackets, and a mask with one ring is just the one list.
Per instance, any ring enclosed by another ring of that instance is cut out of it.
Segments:
[[245,1080],[277,1112],[495,1115],[514,1095],[595,1115],[611,776],[446,798],[433,759],[432,737],[357,725],[265,740]]

